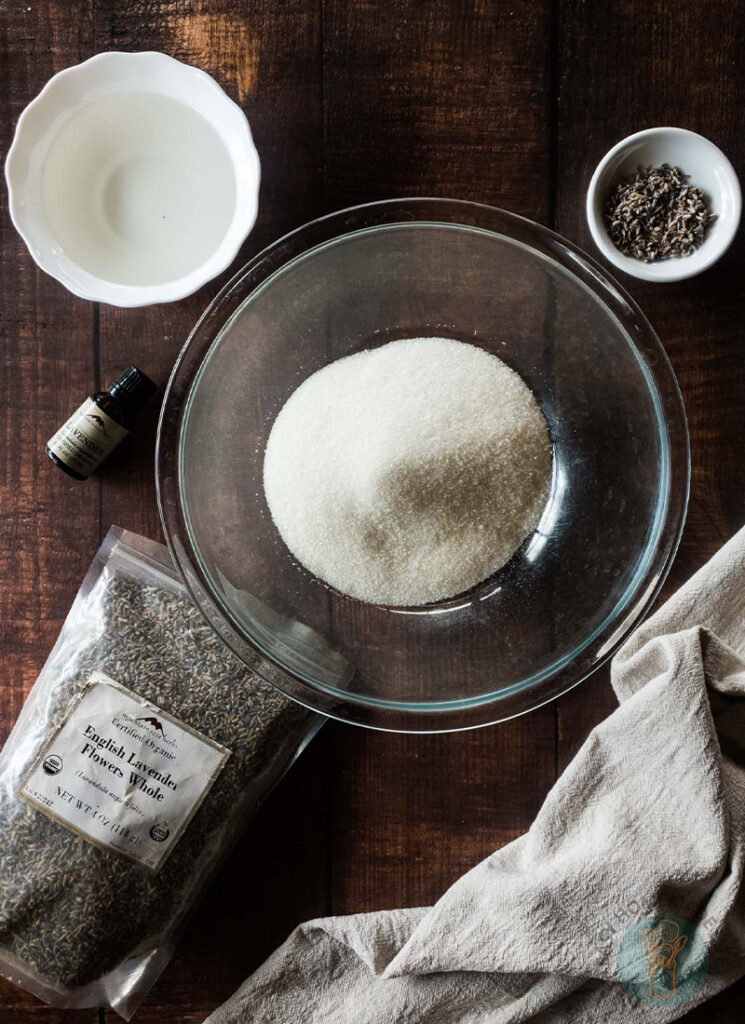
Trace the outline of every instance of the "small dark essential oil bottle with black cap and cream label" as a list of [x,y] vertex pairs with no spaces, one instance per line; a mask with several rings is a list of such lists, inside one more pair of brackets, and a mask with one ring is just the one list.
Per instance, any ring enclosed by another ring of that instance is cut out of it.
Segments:
[[105,391],[96,391],[47,442],[55,466],[85,480],[124,440],[158,386],[141,370],[125,370]]

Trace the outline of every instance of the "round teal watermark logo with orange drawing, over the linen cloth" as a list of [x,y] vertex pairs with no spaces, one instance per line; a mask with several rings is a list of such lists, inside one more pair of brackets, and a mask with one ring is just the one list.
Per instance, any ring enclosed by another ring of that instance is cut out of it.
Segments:
[[674,914],[643,918],[626,930],[616,954],[621,984],[648,1007],[684,1006],[709,969],[706,943]]

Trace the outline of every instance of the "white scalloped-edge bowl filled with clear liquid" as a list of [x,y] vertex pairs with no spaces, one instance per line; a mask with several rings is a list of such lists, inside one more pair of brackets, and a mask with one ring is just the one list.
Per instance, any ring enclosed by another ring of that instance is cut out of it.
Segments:
[[24,111],[5,163],[10,216],[81,298],[173,302],[235,258],[260,166],[243,111],[164,53],[99,53]]

